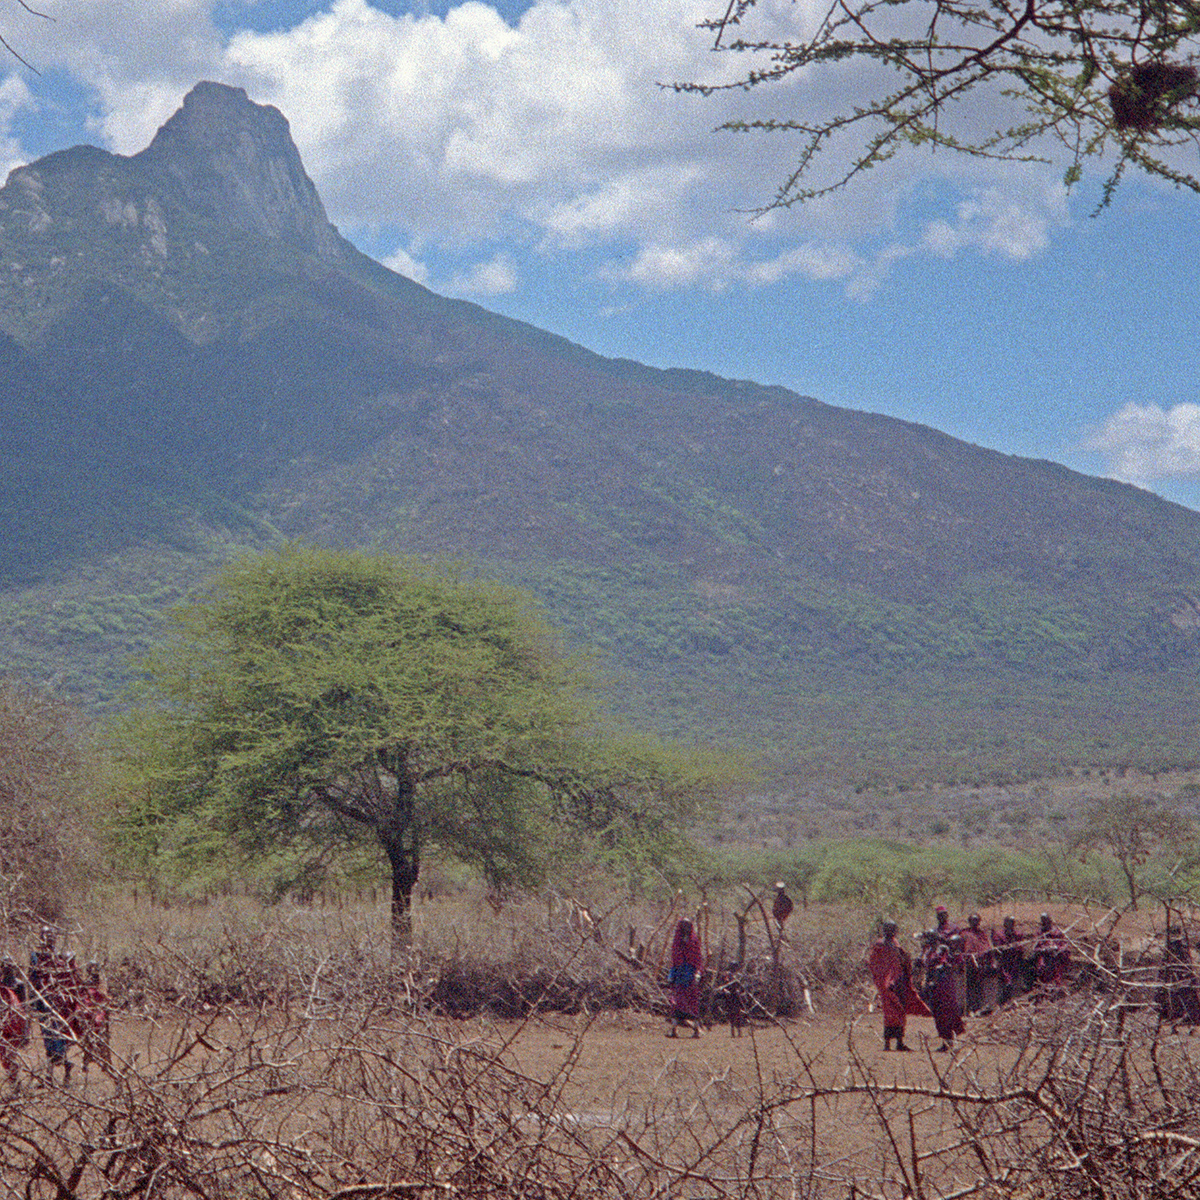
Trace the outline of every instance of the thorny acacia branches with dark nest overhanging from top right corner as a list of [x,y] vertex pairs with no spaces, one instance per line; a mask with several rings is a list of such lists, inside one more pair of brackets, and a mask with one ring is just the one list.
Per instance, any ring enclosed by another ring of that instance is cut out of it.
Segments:
[[[814,73],[854,97],[816,118],[805,112],[722,126],[799,134],[796,167],[764,208],[845,187],[905,145],[1046,161],[1042,148],[1057,142],[1068,185],[1081,178],[1086,158],[1111,150],[1116,163],[1102,205],[1130,166],[1200,191],[1200,179],[1171,158],[1176,148],[1200,144],[1194,0],[832,0],[791,12],[797,34],[780,37],[774,6],[760,12],[758,0],[730,0],[704,28],[715,32],[716,49],[746,55],[749,70],[720,86],[676,84],[710,94]],[[756,18],[766,25],[760,36]],[[953,109],[961,112],[972,94],[991,114],[1015,104],[1013,124],[980,133],[955,125]],[[848,160],[814,180],[822,155],[844,134]]]

